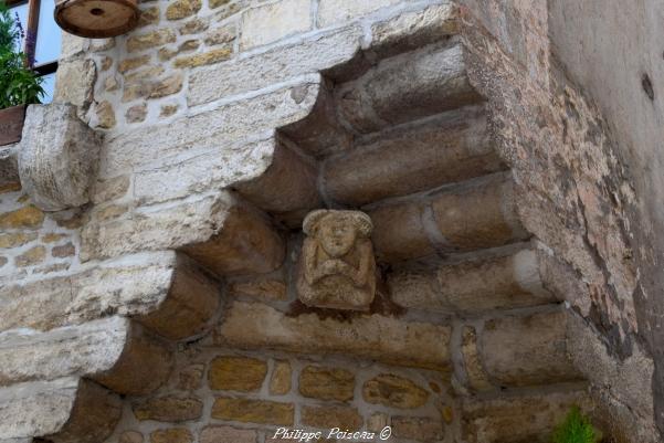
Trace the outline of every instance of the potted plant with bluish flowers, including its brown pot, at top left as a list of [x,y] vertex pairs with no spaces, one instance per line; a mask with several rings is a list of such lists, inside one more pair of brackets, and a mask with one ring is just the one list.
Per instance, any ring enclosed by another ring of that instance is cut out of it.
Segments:
[[42,78],[19,49],[23,38],[18,15],[0,0],[0,146],[21,139],[25,106],[41,103],[44,95]]

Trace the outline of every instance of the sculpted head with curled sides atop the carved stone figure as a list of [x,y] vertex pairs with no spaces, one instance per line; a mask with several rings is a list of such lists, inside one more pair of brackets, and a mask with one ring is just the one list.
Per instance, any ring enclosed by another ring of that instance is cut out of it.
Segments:
[[331,257],[347,254],[358,238],[368,238],[372,229],[369,215],[359,211],[318,210],[303,223],[305,234],[316,239]]

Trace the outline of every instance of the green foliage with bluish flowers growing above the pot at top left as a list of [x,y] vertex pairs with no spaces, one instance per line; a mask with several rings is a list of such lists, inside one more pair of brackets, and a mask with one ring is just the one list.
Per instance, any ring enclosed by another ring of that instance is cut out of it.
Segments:
[[40,103],[44,95],[43,78],[25,66],[25,54],[17,50],[22,35],[20,22],[0,0],[0,109]]

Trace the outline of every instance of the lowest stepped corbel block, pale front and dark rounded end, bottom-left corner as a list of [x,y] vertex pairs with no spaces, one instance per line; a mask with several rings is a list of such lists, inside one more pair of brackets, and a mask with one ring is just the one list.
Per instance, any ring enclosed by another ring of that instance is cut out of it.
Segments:
[[120,399],[77,378],[0,389],[0,435],[42,436],[54,443],[98,443],[120,418]]

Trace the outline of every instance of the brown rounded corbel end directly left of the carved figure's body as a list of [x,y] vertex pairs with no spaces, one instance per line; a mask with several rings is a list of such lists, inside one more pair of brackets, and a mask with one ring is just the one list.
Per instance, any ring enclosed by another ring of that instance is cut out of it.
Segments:
[[286,246],[267,215],[234,205],[215,235],[181,249],[218,275],[264,274],[281,266]]

